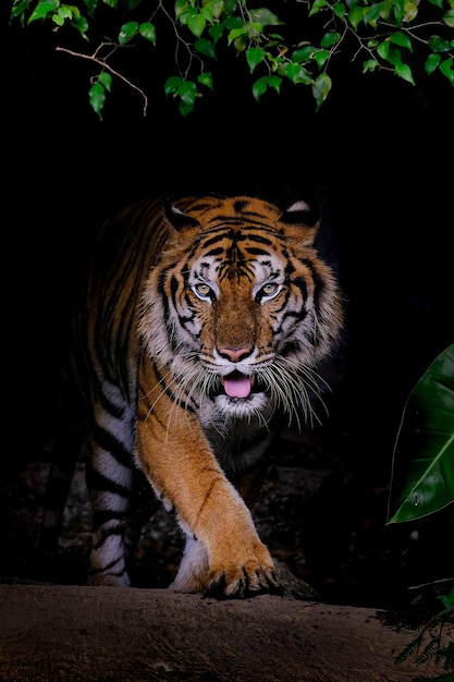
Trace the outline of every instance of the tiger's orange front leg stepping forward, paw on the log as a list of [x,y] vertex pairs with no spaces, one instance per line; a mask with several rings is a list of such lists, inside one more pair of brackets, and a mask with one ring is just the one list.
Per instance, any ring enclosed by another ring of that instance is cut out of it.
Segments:
[[172,589],[219,597],[279,592],[272,558],[250,512],[225,477],[194,415],[183,413],[181,423],[172,419],[167,428],[155,413],[144,410],[137,456],[187,536]]

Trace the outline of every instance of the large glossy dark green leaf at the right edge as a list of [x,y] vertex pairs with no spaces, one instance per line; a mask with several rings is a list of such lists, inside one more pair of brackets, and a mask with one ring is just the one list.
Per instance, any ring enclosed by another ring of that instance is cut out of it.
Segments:
[[413,521],[454,501],[454,344],[408,397],[393,454],[388,523]]

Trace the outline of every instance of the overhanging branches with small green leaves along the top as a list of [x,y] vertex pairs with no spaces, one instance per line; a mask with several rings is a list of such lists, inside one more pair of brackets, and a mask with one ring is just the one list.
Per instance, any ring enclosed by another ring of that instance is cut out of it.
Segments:
[[[168,35],[164,23],[171,26],[175,41],[176,74],[163,88],[175,98],[184,117],[194,110],[198,97],[213,89],[210,64],[221,56],[224,59],[225,49],[245,58],[257,101],[270,89],[279,94],[282,83],[290,82],[309,86],[319,109],[332,88],[331,64],[341,53],[352,53],[352,61],[364,56],[363,73],[388,71],[412,85],[422,63],[428,76],[439,72],[454,86],[454,0],[295,0],[282,8],[285,19],[289,12],[295,13],[291,26],[270,9],[249,3],[176,0],[171,7],[165,0],[78,0],[78,4],[13,0],[11,19],[23,26],[50,22],[57,31],[68,25],[91,42],[89,36],[100,21],[100,10],[108,5],[116,12],[115,35],[90,53],[58,48],[100,66],[89,89],[90,105],[100,118],[112,76],[139,92],[146,114],[147,95],[113,69],[111,59],[118,50],[136,47],[139,40],[157,51],[162,49],[160,36]],[[144,15],[150,4],[151,12]],[[297,39],[292,37],[294,25],[302,27]]]

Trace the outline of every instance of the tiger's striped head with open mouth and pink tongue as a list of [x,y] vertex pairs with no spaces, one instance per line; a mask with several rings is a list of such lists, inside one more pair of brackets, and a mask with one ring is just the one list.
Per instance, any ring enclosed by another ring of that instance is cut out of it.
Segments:
[[318,210],[208,196],[163,209],[168,240],[142,299],[146,353],[180,401],[220,418],[299,418],[339,337],[340,293],[314,238]]

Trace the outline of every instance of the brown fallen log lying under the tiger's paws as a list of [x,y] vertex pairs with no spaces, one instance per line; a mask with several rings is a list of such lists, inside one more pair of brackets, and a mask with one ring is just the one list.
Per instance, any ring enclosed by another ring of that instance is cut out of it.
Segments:
[[[410,682],[386,612],[277,596],[0,585],[1,682]],[[445,629],[454,637],[454,626]]]

